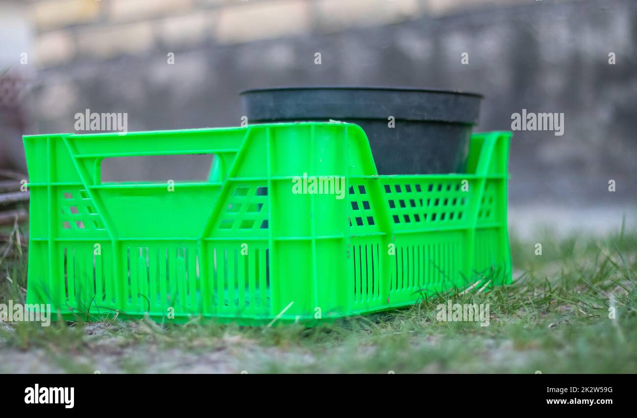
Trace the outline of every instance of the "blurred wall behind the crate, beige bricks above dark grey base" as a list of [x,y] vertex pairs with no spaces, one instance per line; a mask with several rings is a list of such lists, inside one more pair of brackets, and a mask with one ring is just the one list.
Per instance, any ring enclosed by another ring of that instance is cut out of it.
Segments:
[[238,125],[253,87],[469,90],[478,130],[564,113],[563,136],[515,133],[514,204],[636,200],[634,0],[40,0],[29,16],[29,133],[72,132],[84,109],[129,130]]

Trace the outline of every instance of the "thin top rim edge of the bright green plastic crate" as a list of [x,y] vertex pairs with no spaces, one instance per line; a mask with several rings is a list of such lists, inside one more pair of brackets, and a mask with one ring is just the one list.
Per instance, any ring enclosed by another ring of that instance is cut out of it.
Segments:
[[[57,134],[34,134],[23,135],[22,139],[47,139],[48,137],[92,137],[92,138],[111,138],[111,137],[126,137],[126,136],[148,136],[148,135],[174,135],[174,134],[196,134],[203,132],[222,132],[222,131],[236,131],[236,130],[249,130],[254,129],[266,129],[270,127],[282,127],[282,126],[334,126],[334,125],[346,125],[355,126],[365,132],[359,125],[355,123],[347,122],[282,122],[282,123],[259,123],[254,125],[247,125],[245,127],[206,127],[206,128],[190,128],[190,129],[169,129],[169,130],[138,130],[131,132],[96,132],[90,134],[78,134],[74,132],[60,132]],[[487,135],[487,134],[505,134],[510,135],[512,132],[508,130],[492,130],[487,132],[474,132],[473,135]]]

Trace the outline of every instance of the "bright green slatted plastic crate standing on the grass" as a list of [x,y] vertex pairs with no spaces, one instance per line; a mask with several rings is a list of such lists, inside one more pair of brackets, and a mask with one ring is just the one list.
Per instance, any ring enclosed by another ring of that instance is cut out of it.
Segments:
[[[509,282],[510,137],[473,135],[466,174],[378,176],[348,123],[25,136],[27,302],[66,319],[252,324]],[[105,158],[175,154],[215,155],[210,179],[101,182]],[[344,199],[294,193],[303,176],[345,178]]]

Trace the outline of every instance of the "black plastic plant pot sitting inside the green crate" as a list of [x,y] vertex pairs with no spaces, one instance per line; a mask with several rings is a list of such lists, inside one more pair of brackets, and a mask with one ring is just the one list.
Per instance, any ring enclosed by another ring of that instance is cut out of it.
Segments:
[[[365,130],[378,174],[464,172],[482,95],[415,88],[288,87],[241,92],[249,123],[339,120]],[[389,127],[390,116],[394,128]]]

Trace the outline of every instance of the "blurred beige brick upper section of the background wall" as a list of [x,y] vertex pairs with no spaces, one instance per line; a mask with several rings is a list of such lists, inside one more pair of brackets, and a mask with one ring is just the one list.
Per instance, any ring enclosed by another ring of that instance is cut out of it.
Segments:
[[[541,0],[30,0],[39,67],[154,48],[232,45]],[[553,0],[573,3],[580,0]],[[548,3],[548,0],[545,1]]]

